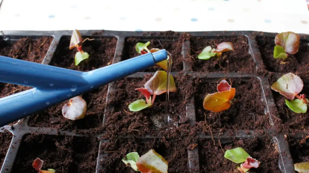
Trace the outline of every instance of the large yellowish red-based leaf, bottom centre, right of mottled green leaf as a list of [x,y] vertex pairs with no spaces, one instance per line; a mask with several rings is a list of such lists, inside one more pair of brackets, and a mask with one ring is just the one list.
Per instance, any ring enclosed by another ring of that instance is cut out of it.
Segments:
[[150,150],[138,159],[136,166],[142,173],[167,173],[168,163],[155,150]]

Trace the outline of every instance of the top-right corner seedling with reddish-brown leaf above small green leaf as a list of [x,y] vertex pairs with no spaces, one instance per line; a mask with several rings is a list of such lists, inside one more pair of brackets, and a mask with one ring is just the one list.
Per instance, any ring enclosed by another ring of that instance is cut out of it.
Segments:
[[286,59],[288,54],[295,54],[299,48],[299,35],[294,32],[282,32],[276,35],[274,58]]

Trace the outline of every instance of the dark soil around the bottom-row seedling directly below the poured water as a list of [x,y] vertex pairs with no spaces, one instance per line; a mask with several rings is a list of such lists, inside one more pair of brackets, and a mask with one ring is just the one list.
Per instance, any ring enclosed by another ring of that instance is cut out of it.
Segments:
[[181,139],[169,140],[167,138],[155,138],[142,141],[141,139],[125,139],[118,138],[112,140],[112,142],[106,142],[102,144],[101,150],[107,154],[100,162],[104,171],[102,173],[134,173],[135,171],[131,167],[121,161],[126,154],[130,152],[138,152],[141,156],[153,149],[157,153],[163,156],[168,162],[168,173],[189,172],[188,163],[188,151],[187,144]]

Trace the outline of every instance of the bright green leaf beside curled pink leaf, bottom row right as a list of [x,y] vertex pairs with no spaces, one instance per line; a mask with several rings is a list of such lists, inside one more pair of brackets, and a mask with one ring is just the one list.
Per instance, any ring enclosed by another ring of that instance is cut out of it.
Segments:
[[224,157],[231,160],[234,163],[243,163],[250,155],[242,148],[237,147],[231,150],[226,150]]

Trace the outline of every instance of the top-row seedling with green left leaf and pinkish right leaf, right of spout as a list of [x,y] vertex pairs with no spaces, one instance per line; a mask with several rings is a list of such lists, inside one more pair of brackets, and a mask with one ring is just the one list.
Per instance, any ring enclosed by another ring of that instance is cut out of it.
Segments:
[[208,60],[213,56],[217,56],[218,58],[220,58],[222,56],[222,52],[226,52],[226,51],[234,51],[233,43],[222,42],[217,45],[217,49],[212,48],[211,46],[207,46],[197,56],[197,58],[200,60]]

